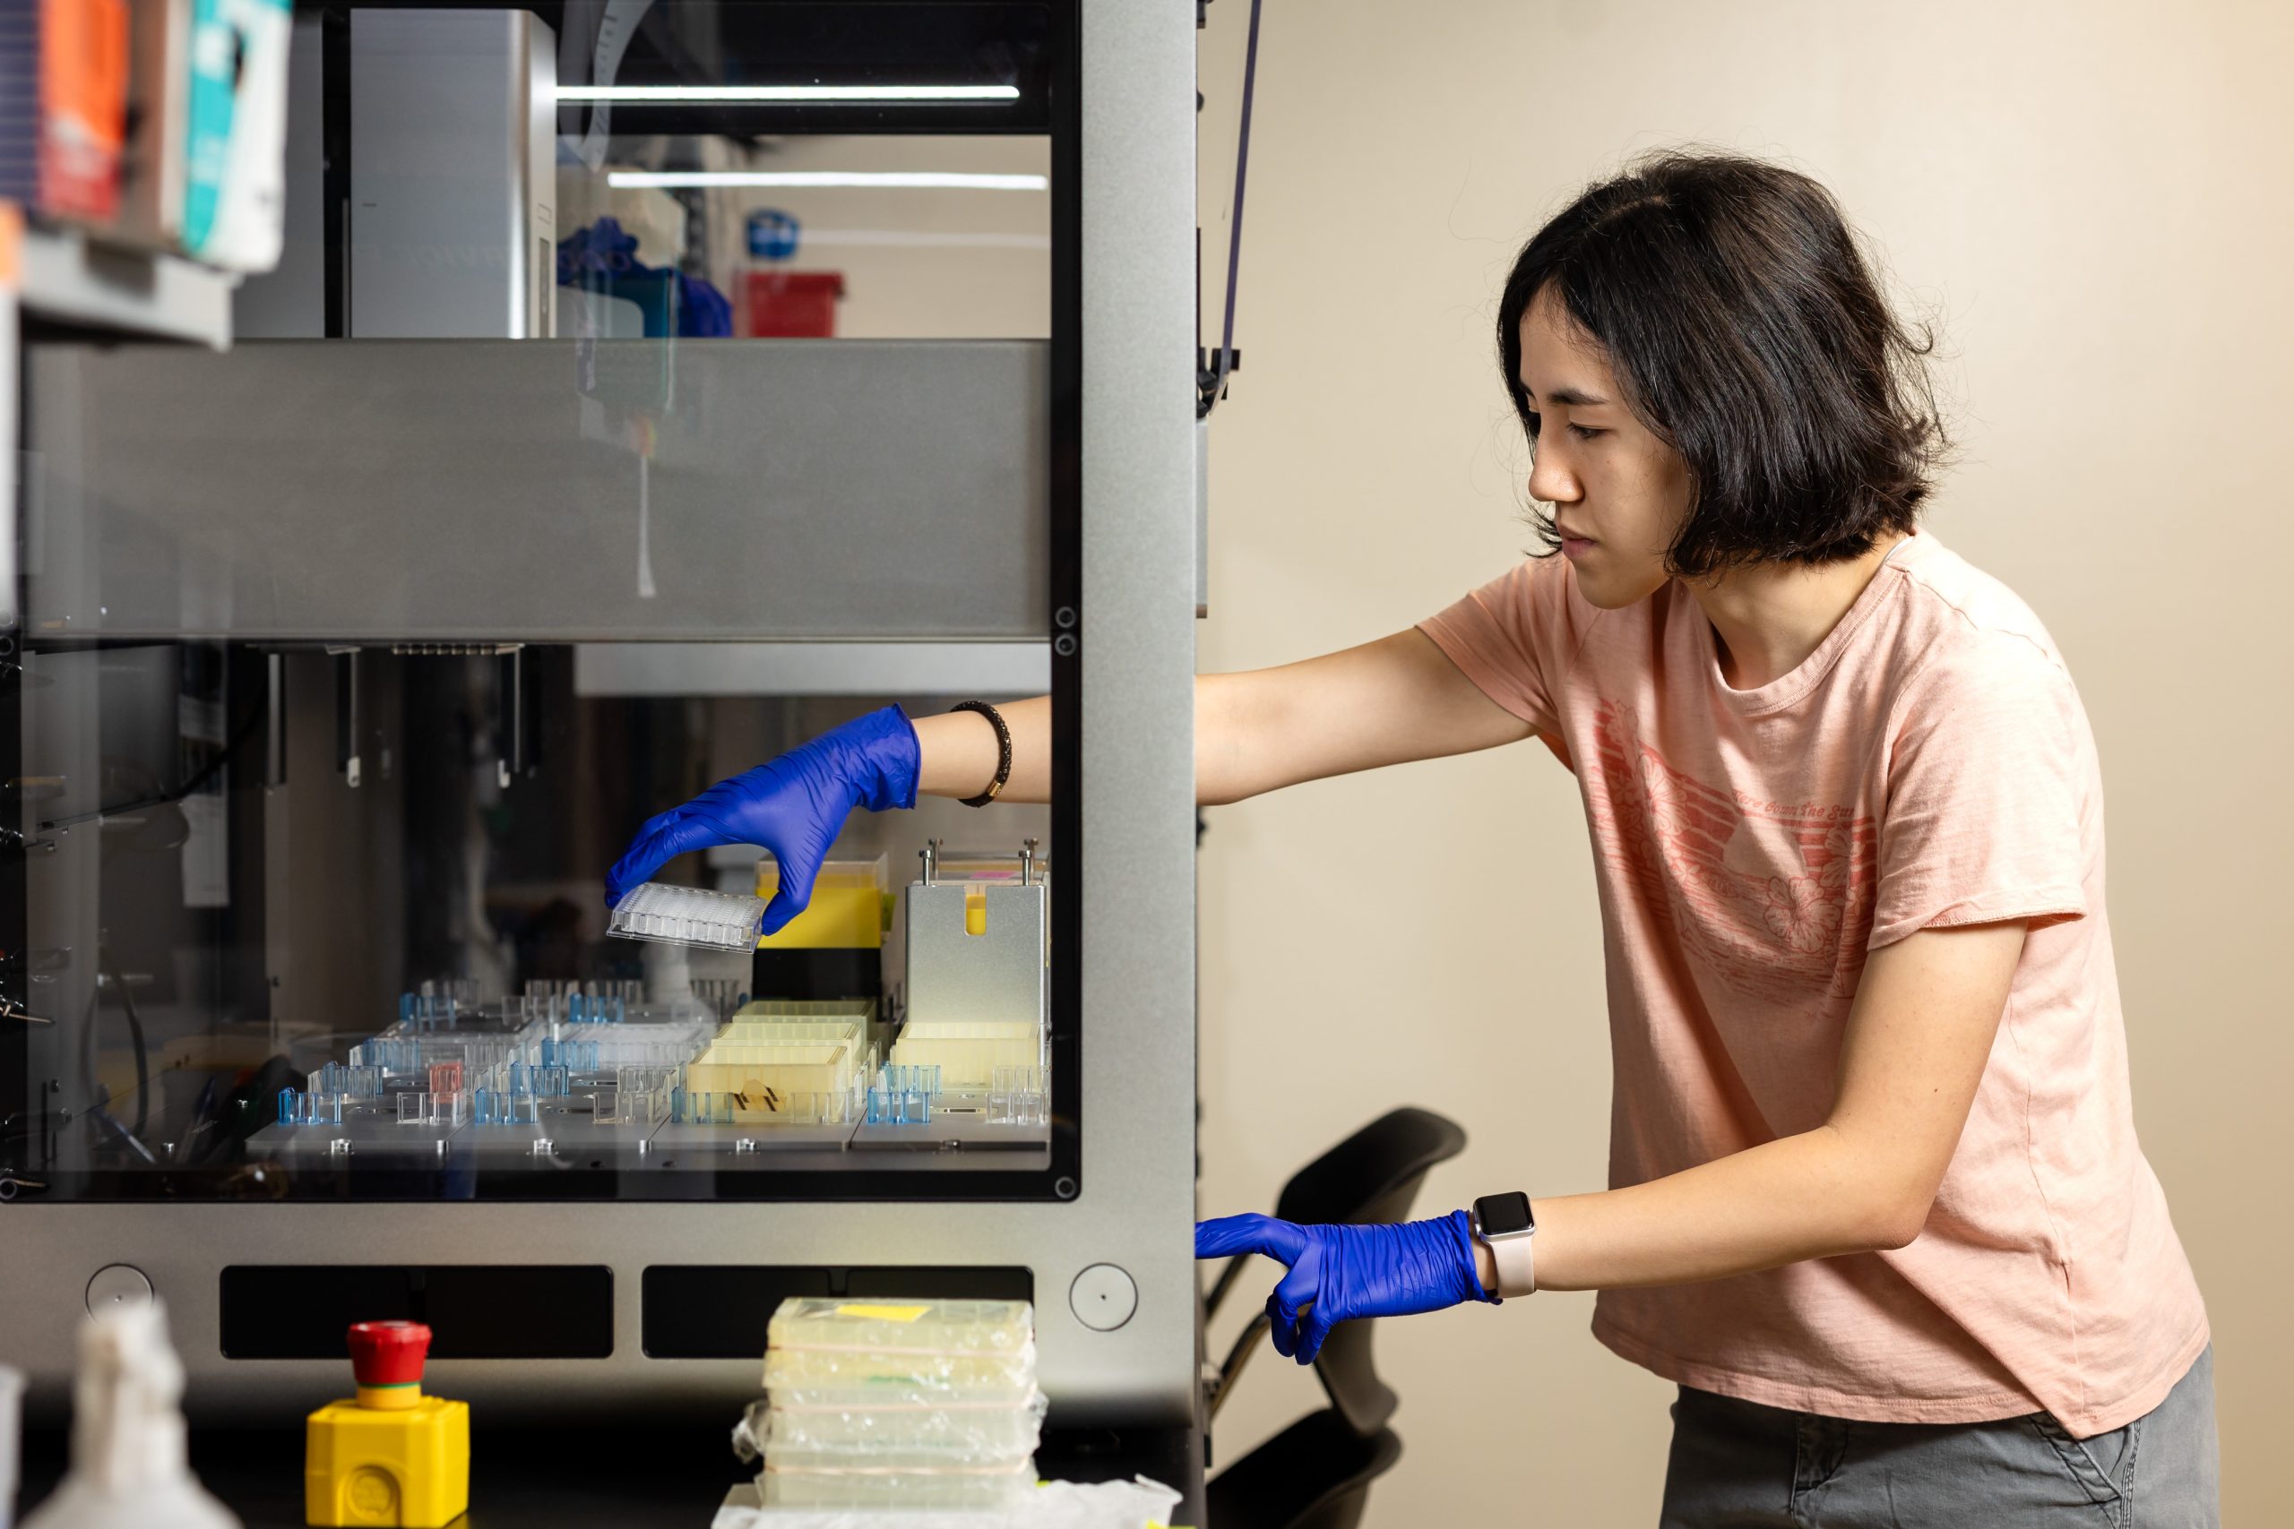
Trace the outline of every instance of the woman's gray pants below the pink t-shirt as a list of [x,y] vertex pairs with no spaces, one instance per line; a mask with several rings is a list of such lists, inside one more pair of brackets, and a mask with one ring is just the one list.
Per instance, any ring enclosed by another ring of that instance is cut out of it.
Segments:
[[1663,1529],[2216,1529],[2214,1350],[2136,1421],[1854,1424],[1682,1387]]

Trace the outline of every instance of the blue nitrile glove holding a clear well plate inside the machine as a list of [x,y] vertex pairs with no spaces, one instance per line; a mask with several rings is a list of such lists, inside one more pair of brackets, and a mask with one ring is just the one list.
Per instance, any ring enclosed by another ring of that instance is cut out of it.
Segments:
[[670,807],[606,871],[606,905],[651,880],[661,862],[716,844],[759,844],[780,862],[780,892],[764,908],[764,933],[812,901],[812,878],[853,807],[915,807],[920,768],[915,727],[899,706],[872,711]]

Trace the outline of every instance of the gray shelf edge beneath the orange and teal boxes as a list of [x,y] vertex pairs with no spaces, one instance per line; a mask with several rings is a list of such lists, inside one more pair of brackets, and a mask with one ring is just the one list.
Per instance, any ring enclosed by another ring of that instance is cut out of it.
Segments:
[[232,344],[236,275],[174,254],[115,250],[78,229],[23,229],[25,328],[39,323],[142,339]]

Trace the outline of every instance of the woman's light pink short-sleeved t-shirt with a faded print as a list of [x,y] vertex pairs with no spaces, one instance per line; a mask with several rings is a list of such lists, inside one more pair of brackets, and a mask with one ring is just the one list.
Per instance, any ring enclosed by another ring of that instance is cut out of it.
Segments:
[[[1601,1291],[1594,1336],[1771,1408],[1964,1424],[2149,1412],[2207,1309],[2136,1142],[2104,789],[2039,619],[1929,534],[1792,674],[1732,690],[1679,585],[1597,610],[1532,559],[1425,624],[1585,795],[1615,1052],[1610,1185],[1821,1126],[1865,954],[2030,919],[1920,1236]],[[1551,1185],[1560,1190],[1560,1185]]]

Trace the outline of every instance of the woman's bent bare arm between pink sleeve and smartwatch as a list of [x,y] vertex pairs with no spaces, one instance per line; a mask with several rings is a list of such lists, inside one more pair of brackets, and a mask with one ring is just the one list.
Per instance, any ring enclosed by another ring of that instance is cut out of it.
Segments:
[[[1665,1178],[1535,1201],[1537,1288],[1686,1284],[1911,1242],[1959,1146],[2021,954],[2019,922],[1925,928],[1874,951],[1831,1116]],[[1496,1288],[1489,1249],[1475,1249]]]

